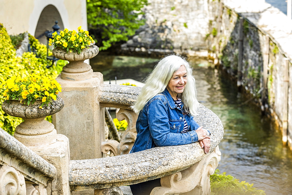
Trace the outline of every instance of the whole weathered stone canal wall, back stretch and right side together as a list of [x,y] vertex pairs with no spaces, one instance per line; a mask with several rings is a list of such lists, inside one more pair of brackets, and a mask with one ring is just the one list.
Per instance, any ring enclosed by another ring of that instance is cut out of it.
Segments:
[[214,59],[263,113],[272,114],[283,142],[288,140],[291,146],[292,20],[264,0],[149,3],[146,25],[122,45],[122,52],[158,56],[175,52]]

